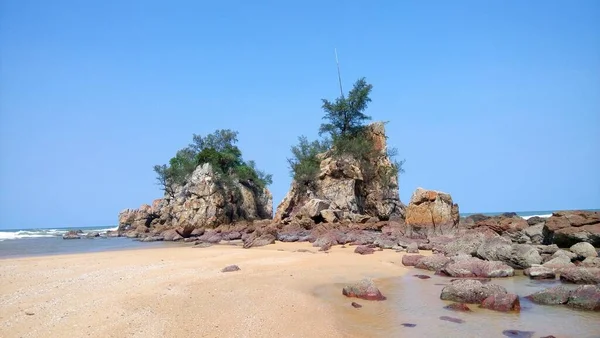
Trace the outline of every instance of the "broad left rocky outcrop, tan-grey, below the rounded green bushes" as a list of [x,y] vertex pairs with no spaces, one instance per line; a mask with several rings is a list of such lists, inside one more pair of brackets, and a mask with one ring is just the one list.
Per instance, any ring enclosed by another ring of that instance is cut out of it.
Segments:
[[154,229],[178,229],[184,237],[196,228],[212,228],[236,221],[270,219],[273,213],[271,193],[251,183],[218,182],[210,164],[200,165],[173,196],[126,209],[119,214],[119,230],[148,232]]

